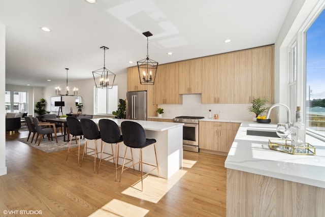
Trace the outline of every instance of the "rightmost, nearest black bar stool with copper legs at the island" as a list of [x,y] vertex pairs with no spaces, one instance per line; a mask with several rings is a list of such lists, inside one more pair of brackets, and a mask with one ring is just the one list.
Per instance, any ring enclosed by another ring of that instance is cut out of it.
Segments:
[[[141,191],[143,191],[143,178],[144,177],[147,177],[148,174],[151,173],[154,169],[157,169],[158,177],[160,177],[158,161],[157,161],[156,146],[155,146],[156,140],[155,139],[147,139],[146,133],[144,132],[143,127],[139,123],[134,122],[134,121],[125,120],[125,121],[121,122],[121,129],[122,129],[122,135],[123,135],[123,142],[126,145],[126,148],[125,148],[125,153],[124,153],[124,160],[123,160],[123,165],[122,165],[120,181],[121,181],[123,171],[131,167],[130,166],[130,167],[127,167],[124,169],[127,148],[130,147],[131,150],[132,150],[132,148],[140,148],[139,162],[134,163],[132,161],[132,165],[134,167],[134,165],[139,164],[139,171],[141,170]],[[142,161],[142,149],[151,145],[151,144],[153,145],[153,148],[154,148],[156,165],[152,165],[152,164],[145,163]],[[150,170],[149,172],[147,172],[145,175],[143,175],[143,164],[152,166],[153,169]],[[136,182],[135,184],[137,184],[138,182]],[[135,184],[133,184],[132,187],[134,187]]]

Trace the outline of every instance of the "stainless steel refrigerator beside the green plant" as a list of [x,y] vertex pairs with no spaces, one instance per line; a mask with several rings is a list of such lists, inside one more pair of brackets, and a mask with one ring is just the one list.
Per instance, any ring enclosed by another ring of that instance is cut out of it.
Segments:
[[126,119],[147,120],[147,91],[126,92]]

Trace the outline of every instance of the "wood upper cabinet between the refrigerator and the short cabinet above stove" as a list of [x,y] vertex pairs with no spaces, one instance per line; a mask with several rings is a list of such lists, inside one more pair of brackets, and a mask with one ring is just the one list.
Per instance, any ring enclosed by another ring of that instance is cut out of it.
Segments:
[[181,104],[178,94],[178,63],[159,65],[153,85],[154,104]]

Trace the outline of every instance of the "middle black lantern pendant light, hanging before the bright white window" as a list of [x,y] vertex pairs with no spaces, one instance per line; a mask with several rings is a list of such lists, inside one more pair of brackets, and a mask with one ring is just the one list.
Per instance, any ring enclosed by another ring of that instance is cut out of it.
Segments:
[[102,46],[101,49],[104,49],[104,68],[92,72],[93,80],[95,81],[96,88],[112,89],[115,74],[105,67],[105,50],[109,48]]

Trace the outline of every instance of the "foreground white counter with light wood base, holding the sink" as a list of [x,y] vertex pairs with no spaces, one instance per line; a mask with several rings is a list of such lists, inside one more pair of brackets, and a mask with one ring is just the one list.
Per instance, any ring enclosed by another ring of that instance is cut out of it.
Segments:
[[225,161],[226,215],[325,216],[324,142],[306,136],[315,156],[274,151],[270,137],[246,135],[250,125],[242,123]]

